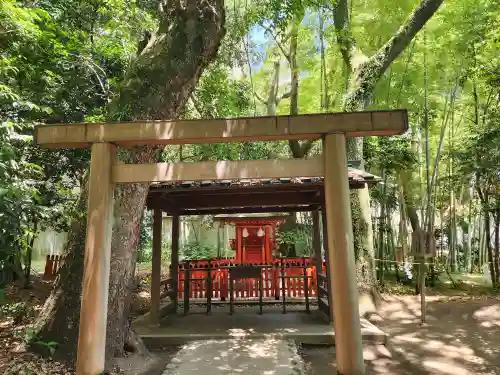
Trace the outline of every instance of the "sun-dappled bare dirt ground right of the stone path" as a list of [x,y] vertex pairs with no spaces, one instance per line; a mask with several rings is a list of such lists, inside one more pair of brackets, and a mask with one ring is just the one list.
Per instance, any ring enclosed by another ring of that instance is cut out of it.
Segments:
[[[500,374],[500,299],[435,296],[420,325],[417,296],[386,296],[375,323],[388,347],[365,346],[367,374]],[[334,348],[302,348],[308,375],[334,373]]]

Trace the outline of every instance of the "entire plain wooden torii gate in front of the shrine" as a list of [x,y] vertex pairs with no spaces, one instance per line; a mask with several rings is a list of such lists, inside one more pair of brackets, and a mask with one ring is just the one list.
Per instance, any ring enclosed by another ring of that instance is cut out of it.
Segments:
[[[333,304],[339,373],[364,373],[349,202],[346,136],[402,134],[406,110],[321,113],[213,120],[135,121],[106,124],[39,125],[36,144],[48,148],[91,148],[77,375],[104,371],[106,320],[115,184],[197,179],[324,176],[328,286]],[[118,164],[117,146],[271,140],[323,140],[323,157],[304,160]]]

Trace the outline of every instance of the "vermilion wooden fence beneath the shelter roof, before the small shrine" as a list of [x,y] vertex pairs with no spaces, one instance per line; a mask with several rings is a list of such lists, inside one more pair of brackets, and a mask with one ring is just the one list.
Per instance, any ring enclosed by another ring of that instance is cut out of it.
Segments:
[[[259,265],[262,275],[262,292],[264,298],[274,297],[279,299],[283,290],[288,298],[305,297],[303,278],[307,280],[309,297],[317,295],[316,267],[312,258],[286,258],[276,259],[270,264],[257,262],[245,262],[248,265]],[[179,281],[177,283],[177,295],[179,299],[184,298],[184,287],[186,277],[190,278],[189,298],[204,299],[208,297],[208,273],[210,272],[210,282],[212,283],[211,298],[226,299],[229,295],[229,272],[230,267],[237,265],[234,259],[212,259],[184,261],[179,264]],[[325,265],[323,265],[325,273]],[[283,277],[284,276],[284,277]],[[295,276],[289,278],[289,276]],[[193,280],[194,279],[194,280]],[[283,285],[283,283],[285,285]],[[283,287],[284,286],[284,287]],[[258,280],[238,280],[234,285],[234,296],[236,298],[258,298]]]

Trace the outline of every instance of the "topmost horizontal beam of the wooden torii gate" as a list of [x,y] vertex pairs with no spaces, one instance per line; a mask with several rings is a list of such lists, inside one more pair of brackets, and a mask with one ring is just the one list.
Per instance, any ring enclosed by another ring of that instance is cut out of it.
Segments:
[[133,121],[56,124],[35,127],[35,142],[47,148],[86,148],[92,143],[119,146],[317,139],[324,134],[349,137],[402,134],[406,110],[321,113],[297,116],[212,120]]

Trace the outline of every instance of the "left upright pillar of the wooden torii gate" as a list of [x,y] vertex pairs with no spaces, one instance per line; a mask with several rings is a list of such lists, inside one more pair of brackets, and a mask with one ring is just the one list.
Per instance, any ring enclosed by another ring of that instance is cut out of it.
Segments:
[[92,145],[77,375],[97,375],[104,371],[113,229],[114,184],[111,168],[115,157],[114,145]]

